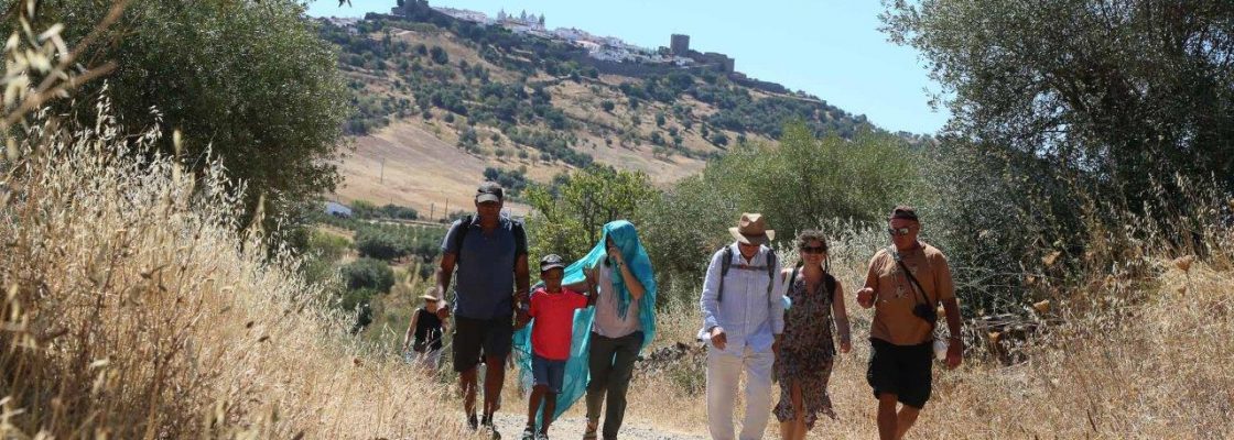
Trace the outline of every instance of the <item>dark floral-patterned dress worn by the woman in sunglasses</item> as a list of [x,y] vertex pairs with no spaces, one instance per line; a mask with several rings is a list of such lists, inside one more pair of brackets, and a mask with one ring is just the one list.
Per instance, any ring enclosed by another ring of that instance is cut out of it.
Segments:
[[[832,362],[835,359],[835,341],[832,338],[833,292],[828,286],[835,286],[830,274],[818,283],[814,292],[806,288],[806,275],[798,274],[785,293],[792,306],[784,313],[784,335],[780,341],[780,359],[775,372],[780,377],[780,403],[775,405],[775,415],[781,423],[796,418],[798,410],[805,412],[806,426],[813,429],[822,412],[832,419],[832,398],[827,393],[827,382],[832,377]],[[805,408],[792,407],[792,386],[800,385],[801,401]]]

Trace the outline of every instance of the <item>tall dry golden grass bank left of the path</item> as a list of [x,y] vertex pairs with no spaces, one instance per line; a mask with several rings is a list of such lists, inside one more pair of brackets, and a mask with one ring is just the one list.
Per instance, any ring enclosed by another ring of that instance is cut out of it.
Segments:
[[371,356],[234,222],[220,166],[181,171],[157,131],[36,121],[4,164],[0,435],[462,435],[443,387]]

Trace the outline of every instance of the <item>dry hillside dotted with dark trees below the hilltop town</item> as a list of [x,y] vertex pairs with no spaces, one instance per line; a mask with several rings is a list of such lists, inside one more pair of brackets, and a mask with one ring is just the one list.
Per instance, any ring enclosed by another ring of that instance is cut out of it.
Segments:
[[342,48],[355,108],[344,202],[441,214],[466,203],[487,168],[548,182],[600,163],[669,184],[737,142],[775,141],[790,120],[843,137],[876,129],[740,74],[598,62],[569,43],[437,12],[323,21],[321,33]]

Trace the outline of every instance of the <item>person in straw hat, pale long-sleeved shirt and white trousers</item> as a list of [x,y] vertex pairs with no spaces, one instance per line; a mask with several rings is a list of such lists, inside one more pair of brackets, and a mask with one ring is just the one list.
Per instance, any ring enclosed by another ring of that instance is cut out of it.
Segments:
[[734,243],[716,251],[703,280],[707,348],[707,425],[717,440],[734,439],[733,403],[745,370],[745,420],[740,439],[761,439],[771,414],[771,367],[784,332],[780,263],[771,250],[775,230],[766,218],[743,213],[728,229]]

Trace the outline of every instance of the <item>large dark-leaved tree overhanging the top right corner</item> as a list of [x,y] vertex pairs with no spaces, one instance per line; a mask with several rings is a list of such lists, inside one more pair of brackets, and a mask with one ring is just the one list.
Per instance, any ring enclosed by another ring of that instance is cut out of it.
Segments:
[[1219,4],[949,0],[885,21],[954,90],[946,133],[1090,171],[1137,206],[1176,173],[1234,187],[1234,9]]

